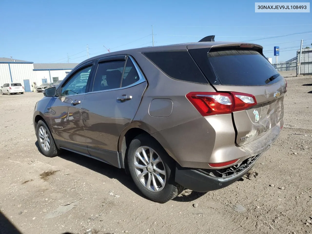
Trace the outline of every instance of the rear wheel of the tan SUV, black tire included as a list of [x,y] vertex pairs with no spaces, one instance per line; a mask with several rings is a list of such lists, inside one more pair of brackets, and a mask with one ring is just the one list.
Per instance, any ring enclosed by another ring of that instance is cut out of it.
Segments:
[[140,134],[131,141],[128,166],[136,186],[155,202],[168,202],[184,189],[174,181],[174,160],[147,134]]

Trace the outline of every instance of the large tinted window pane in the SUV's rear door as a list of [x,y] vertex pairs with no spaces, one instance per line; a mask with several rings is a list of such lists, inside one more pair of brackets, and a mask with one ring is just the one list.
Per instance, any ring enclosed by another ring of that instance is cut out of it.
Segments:
[[124,60],[99,63],[92,91],[120,88],[124,63]]

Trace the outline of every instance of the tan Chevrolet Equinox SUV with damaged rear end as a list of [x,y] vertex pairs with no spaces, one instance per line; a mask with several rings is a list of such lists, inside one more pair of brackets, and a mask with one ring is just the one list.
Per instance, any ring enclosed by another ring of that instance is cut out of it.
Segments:
[[66,149],[125,168],[167,202],[246,174],[280,134],[286,86],[259,45],[145,47],[80,63],[44,91],[33,122],[45,156]]

